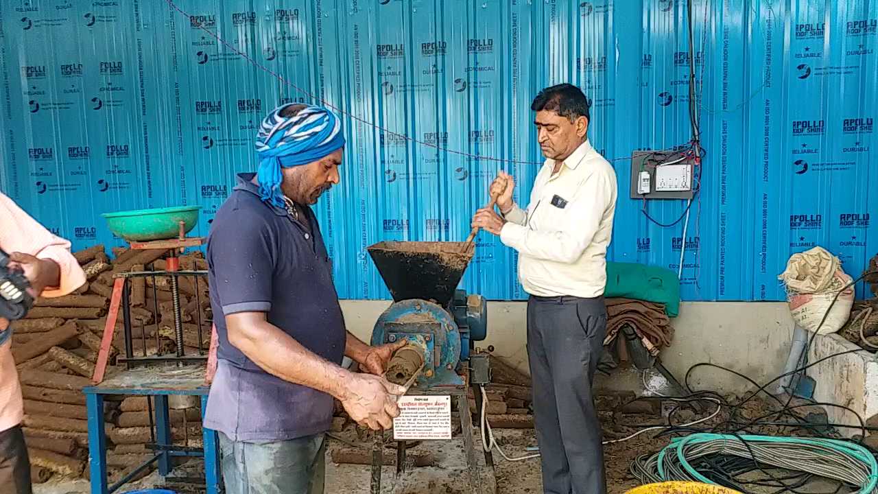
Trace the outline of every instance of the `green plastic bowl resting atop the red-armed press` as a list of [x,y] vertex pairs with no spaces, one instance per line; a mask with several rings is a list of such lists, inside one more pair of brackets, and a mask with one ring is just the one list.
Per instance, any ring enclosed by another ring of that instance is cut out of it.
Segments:
[[116,236],[128,242],[148,242],[180,236],[180,222],[184,222],[184,233],[189,233],[198,223],[200,209],[200,206],[156,207],[101,215]]

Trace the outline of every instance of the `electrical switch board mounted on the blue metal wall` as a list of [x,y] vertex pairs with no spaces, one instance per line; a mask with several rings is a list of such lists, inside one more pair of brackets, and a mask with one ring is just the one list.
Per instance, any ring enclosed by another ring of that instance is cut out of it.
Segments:
[[634,151],[631,199],[692,199],[694,159],[680,151]]

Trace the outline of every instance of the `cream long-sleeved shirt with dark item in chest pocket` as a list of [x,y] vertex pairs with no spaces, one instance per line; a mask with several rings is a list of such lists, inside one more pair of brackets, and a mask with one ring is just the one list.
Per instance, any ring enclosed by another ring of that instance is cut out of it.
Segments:
[[583,142],[552,174],[546,160],[527,210],[505,214],[500,240],[519,251],[518,278],[537,296],[601,296],[607,286],[607,247],[615,214],[615,171]]

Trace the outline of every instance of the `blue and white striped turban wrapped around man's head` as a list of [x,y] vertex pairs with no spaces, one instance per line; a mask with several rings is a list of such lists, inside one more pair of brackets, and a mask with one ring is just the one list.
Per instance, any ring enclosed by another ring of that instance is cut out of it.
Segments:
[[263,120],[256,134],[259,155],[259,192],[262,200],[284,207],[280,193],[283,181],[280,169],[312,163],[344,146],[342,120],[320,106],[306,105],[290,118],[278,106]]

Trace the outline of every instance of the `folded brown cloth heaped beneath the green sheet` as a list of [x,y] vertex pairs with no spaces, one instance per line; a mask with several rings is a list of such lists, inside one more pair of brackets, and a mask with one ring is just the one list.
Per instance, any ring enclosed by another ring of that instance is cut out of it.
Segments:
[[613,343],[625,325],[634,328],[646,349],[653,355],[662,347],[671,345],[673,326],[665,313],[665,305],[651,301],[608,298],[607,337],[604,345]]

